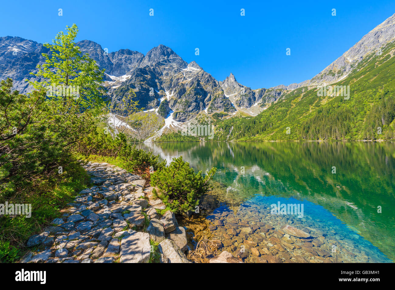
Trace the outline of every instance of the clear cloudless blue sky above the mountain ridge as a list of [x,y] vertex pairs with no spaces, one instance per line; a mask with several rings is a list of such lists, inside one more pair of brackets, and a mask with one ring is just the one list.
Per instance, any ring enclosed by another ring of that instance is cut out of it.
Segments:
[[51,42],[76,23],[77,40],[96,41],[110,52],[128,48],[143,54],[167,45],[217,80],[232,72],[256,89],[312,78],[395,13],[393,0],[299,2],[3,1],[0,36]]

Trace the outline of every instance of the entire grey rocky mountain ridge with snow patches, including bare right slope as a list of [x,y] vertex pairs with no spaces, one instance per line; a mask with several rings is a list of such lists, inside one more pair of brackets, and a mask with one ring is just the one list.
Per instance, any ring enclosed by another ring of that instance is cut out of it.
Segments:
[[[136,101],[145,110],[160,107],[163,117],[173,111],[174,120],[186,122],[205,109],[209,114],[221,111],[233,113],[236,110],[258,114],[271,102],[281,99],[284,90],[336,82],[362,60],[380,54],[381,48],[394,39],[395,14],[311,80],[258,90],[239,84],[233,74],[218,82],[196,62],[186,63],[165,45],[152,48],[146,55],[130,49],[110,52],[111,47],[103,48],[90,40],[79,41],[77,45],[81,52],[88,53],[101,69],[105,69],[103,81],[112,105],[132,89],[137,96]],[[0,37],[0,79],[11,77],[14,88],[21,93],[29,92],[32,88],[24,80],[34,79],[29,73],[36,72],[36,65],[43,64],[41,53],[47,52],[48,49],[41,43],[32,40]]]

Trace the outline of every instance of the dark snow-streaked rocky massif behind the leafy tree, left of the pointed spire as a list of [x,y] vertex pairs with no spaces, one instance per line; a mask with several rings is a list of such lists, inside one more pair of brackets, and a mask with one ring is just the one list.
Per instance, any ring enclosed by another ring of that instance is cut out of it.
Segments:
[[[81,52],[88,53],[96,61],[100,69],[105,69],[103,82],[112,106],[132,89],[145,110],[158,108],[163,118],[173,111],[173,118],[178,122],[191,120],[205,109],[209,113],[236,112],[220,82],[196,62],[186,63],[169,47],[158,45],[144,56],[129,49],[109,52],[107,47],[102,48],[90,40],[79,41],[77,45]],[[13,55],[13,52],[17,54]],[[31,40],[0,37],[0,79],[11,77],[14,88],[21,93],[31,91],[32,87],[24,80],[35,79],[29,73],[36,72],[36,65],[43,64],[41,53],[47,52],[42,44]],[[248,88],[248,91],[252,90]],[[238,100],[239,105],[247,107],[254,103],[255,93],[245,94]]]

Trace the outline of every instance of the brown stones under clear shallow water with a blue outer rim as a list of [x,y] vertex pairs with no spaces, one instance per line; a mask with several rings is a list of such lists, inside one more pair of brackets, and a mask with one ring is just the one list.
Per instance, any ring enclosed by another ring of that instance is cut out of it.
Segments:
[[196,241],[210,239],[246,263],[391,262],[366,239],[322,218],[272,214],[270,206],[244,202],[185,225]]

